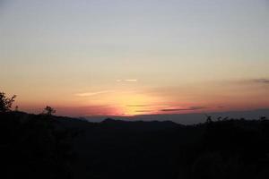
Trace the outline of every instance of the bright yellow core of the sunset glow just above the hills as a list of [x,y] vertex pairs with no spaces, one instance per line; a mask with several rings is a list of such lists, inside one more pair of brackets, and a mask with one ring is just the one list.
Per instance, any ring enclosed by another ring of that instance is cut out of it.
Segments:
[[84,101],[88,106],[97,107],[93,114],[134,116],[156,114],[163,100],[143,92],[118,90],[91,96]]

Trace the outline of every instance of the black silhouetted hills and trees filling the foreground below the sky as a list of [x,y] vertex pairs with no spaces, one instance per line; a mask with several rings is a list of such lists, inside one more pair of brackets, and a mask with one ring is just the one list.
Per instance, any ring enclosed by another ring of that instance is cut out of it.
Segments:
[[93,124],[0,113],[1,178],[267,179],[269,121]]

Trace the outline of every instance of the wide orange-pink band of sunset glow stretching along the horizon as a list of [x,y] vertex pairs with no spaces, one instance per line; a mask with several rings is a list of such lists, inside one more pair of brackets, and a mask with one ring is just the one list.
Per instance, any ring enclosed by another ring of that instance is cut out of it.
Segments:
[[139,83],[120,83],[114,88],[23,91],[9,96],[18,95],[14,106],[36,114],[47,105],[56,108],[57,115],[71,116],[187,114],[269,107],[268,92],[265,86],[259,85],[251,81],[247,84],[208,82],[186,88],[148,90]]

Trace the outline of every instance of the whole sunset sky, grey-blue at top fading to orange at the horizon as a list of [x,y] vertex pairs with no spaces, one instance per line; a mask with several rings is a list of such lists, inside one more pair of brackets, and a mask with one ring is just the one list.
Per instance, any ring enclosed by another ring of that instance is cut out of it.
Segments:
[[0,91],[70,116],[268,108],[268,32],[268,0],[0,0]]

